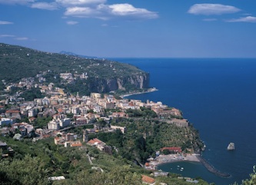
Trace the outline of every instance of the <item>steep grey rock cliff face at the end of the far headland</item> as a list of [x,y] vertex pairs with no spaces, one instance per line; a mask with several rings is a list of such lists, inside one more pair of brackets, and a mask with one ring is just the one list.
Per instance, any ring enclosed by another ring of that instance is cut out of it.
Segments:
[[106,93],[109,91],[149,88],[149,74],[132,74],[124,78],[94,79],[88,84],[90,91]]

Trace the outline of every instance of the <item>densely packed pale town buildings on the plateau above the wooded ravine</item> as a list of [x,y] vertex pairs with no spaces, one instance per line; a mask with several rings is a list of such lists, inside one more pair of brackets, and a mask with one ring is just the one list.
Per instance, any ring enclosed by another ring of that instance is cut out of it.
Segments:
[[[70,75],[61,74],[61,76],[66,79],[66,76]],[[38,75],[38,78],[41,78],[41,76]],[[52,120],[48,121],[47,127],[35,127],[35,134],[38,134],[39,138],[57,135],[60,130],[65,130],[67,127],[79,127],[87,124],[94,125],[94,128],[90,131],[97,132],[102,129],[95,124],[97,121],[104,120],[109,123],[114,117],[128,117],[127,110],[138,110],[141,107],[150,108],[155,111],[158,118],[164,119],[170,124],[188,127],[188,121],[183,119],[181,111],[168,107],[161,102],[142,102],[117,98],[112,94],[99,93],[91,93],[90,96],[82,97],[78,94],[68,95],[62,88],[56,88],[53,83],[48,85],[35,84],[33,78],[23,78],[18,84],[12,84],[12,86],[15,85],[20,88],[32,88],[32,85],[34,85],[40,88],[40,91],[47,94],[47,96],[35,98],[34,101],[25,101],[24,98],[16,95],[8,96],[0,101],[2,134],[18,129],[21,137],[30,136],[34,131],[33,125],[35,125],[35,120],[38,117],[52,117]],[[10,88],[10,86],[7,86],[5,91]],[[28,123],[19,123],[22,117],[27,117]],[[12,127],[6,127],[8,125]],[[115,127],[115,125],[110,125],[108,129],[115,130],[117,128],[121,129],[123,133],[125,132],[125,128]]]

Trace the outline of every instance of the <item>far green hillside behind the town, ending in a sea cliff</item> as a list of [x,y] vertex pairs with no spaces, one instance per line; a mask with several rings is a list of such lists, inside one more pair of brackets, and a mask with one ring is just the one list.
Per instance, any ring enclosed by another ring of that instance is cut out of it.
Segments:
[[148,73],[129,64],[3,43],[0,44],[0,65],[0,81],[4,80],[5,84],[37,77],[35,81],[42,78],[45,84],[53,82],[71,93],[129,91],[148,88],[149,82]]

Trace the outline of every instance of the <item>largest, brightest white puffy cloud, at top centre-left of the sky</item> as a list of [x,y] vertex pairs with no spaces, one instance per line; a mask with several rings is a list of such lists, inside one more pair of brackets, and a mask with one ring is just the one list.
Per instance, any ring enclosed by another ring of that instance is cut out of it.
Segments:
[[97,5],[92,7],[67,8],[65,15],[84,18],[129,18],[129,19],[151,19],[158,18],[156,12],[150,12],[145,8],[135,8],[130,4]]

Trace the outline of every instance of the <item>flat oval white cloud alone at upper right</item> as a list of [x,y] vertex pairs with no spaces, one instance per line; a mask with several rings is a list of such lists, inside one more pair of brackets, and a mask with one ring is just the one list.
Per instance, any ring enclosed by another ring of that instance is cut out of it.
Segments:
[[188,13],[194,15],[222,15],[240,12],[239,8],[221,4],[195,4],[189,8]]

